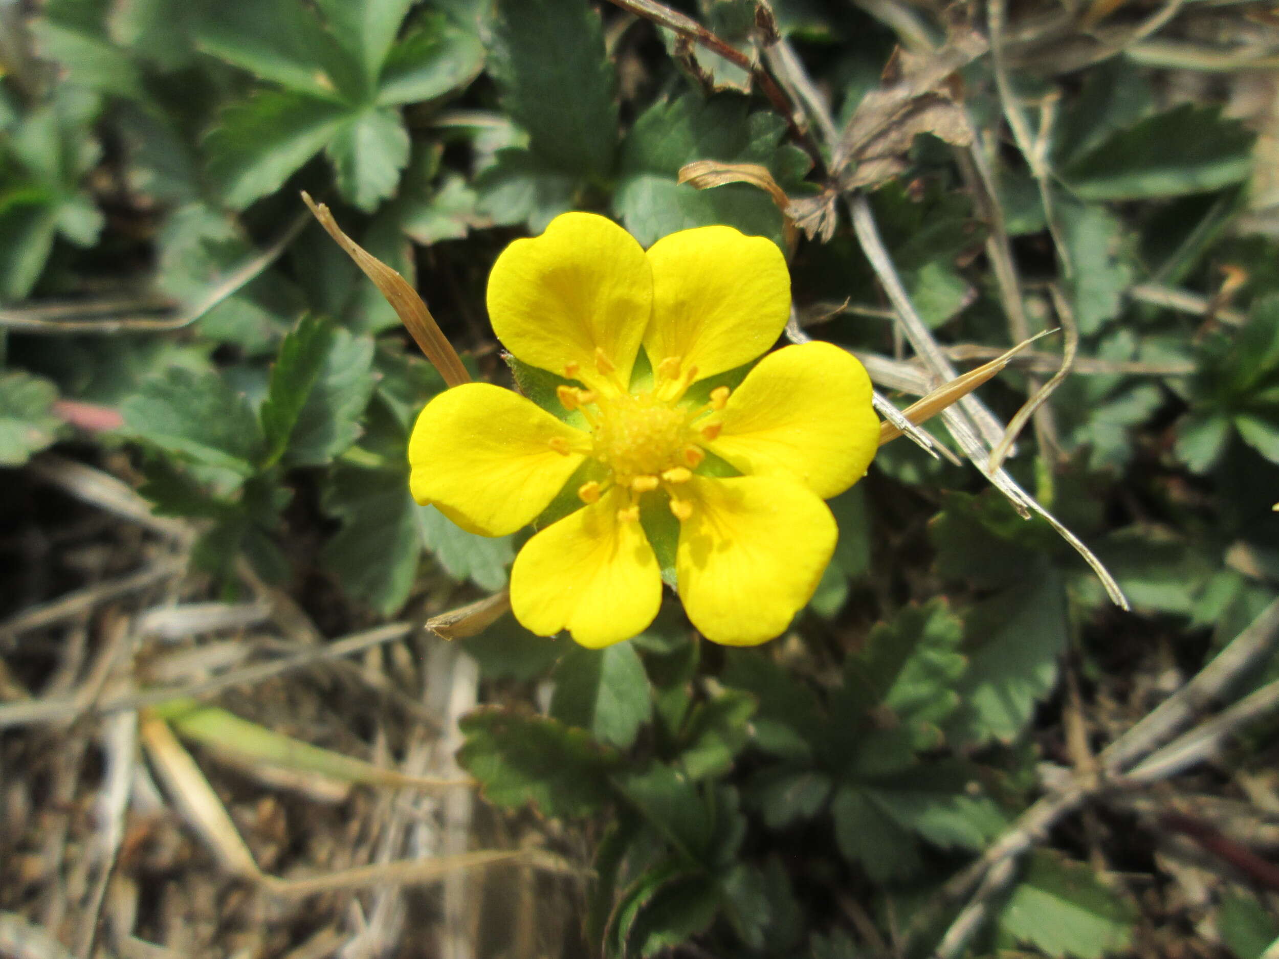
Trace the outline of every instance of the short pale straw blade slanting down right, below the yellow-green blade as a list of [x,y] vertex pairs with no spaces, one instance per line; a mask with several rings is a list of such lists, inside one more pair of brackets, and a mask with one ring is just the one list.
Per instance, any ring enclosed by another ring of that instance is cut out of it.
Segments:
[[187,822],[200,834],[223,868],[244,878],[260,880],[262,872],[226,807],[208,785],[169,724],[153,712],[143,712],[139,728],[147,756],[169,788],[170,797]]

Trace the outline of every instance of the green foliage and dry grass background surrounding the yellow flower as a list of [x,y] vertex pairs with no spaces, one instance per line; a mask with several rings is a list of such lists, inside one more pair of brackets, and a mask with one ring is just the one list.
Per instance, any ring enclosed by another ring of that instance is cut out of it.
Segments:
[[[5,0],[0,60],[0,953],[1275,954],[1269,5]],[[302,189],[499,382],[565,210],[773,238],[898,407],[1058,329],[955,417],[1060,380],[1005,476],[1132,610],[939,421],[765,647],[418,629],[519,537],[409,499],[443,382]]]

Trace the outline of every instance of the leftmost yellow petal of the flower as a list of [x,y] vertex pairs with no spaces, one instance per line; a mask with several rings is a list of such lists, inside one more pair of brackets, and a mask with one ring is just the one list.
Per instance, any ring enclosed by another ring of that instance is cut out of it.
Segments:
[[505,536],[546,509],[590,442],[510,390],[463,384],[418,416],[408,442],[409,488],[414,500],[435,504],[464,529]]

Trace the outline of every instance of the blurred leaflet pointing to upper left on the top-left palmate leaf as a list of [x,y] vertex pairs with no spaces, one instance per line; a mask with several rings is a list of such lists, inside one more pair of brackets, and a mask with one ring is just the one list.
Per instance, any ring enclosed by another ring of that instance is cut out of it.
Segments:
[[354,60],[298,0],[215,4],[196,27],[196,42],[205,52],[307,97],[340,100],[362,92]]

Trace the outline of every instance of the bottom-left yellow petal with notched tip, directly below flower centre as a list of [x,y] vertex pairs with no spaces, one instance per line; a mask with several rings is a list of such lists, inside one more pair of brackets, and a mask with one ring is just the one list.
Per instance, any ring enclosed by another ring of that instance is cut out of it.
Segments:
[[526,629],[561,629],[599,650],[642,633],[661,605],[661,570],[643,527],[620,519],[625,494],[604,497],[542,529],[510,569],[510,607]]

